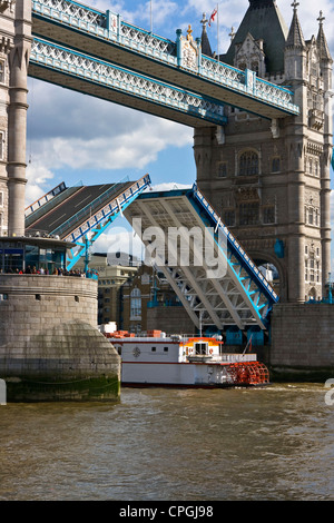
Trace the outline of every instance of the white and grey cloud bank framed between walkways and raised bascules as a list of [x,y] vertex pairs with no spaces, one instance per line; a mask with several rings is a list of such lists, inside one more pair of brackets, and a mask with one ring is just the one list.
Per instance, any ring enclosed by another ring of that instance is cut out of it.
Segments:
[[[185,126],[41,81],[30,83],[28,152],[31,165],[48,172],[40,184],[63,168],[145,169],[167,147],[193,145],[193,129]],[[38,184],[37,176],[28,178]]]

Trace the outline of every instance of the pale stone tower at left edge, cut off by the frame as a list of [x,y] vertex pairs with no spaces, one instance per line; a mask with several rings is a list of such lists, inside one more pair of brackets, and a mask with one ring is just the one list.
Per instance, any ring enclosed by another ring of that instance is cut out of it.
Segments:
[[24,235],[30,0],[0,0],[0,236]]

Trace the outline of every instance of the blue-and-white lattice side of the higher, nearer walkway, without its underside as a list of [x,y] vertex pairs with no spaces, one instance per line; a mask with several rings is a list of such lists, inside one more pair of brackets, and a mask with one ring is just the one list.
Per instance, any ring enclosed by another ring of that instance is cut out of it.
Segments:
[[[47,20],[59,27],[78,31],[82,36],[98,39],[119,49],[127,49],[138,57],[145,57],[171,69],[183,71],[208,81],[213,86],[220,86],[226,90],[259,101],[264,107],[277,108],[286,115],[298,115],[299,108],[294,103],[294,93],[285,87],[271,83],[256,77],[254,71],[242,71],[222,63],[209,57],[198,57],[195,62],[184,58],[181,34],[178,30],[177,41],[164,39],[151,34],[136,26],[121,21],[119,14],[107,11],[97,11],[70,0],[33,0],[32,18]],[[33,32],[33,27],[32,27]],[[198,46],[198,41],[196,41]],[[245,101],[247,106],[247,101]],[[247,110],[246,107],[244,107]],[[250,110],[250,109],[249,109]],[[259,116],[261,111],[258,112]],[[265,116],[264,116],[265,117]]]

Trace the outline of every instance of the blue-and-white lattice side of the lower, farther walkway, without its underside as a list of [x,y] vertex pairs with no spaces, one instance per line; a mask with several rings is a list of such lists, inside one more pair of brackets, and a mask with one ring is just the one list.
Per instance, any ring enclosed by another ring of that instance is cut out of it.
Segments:
[[[227,117],[224,116],[224,105],[218,100],[195,95],[40,38],[33,39],[29,62],[85,82],[102,86],[108,90],[117,90],[132,98],[144,99],[149,103],[163,106],[199,120],[210,121],[218,126],[227,122]],[[81,83],[78,91],[82,91]]]

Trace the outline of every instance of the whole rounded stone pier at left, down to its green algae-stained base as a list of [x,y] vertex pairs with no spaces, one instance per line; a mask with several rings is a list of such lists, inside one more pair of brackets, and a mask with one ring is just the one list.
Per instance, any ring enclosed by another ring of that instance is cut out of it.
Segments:
[[9,401],[115,401],[120,358],[97,329],[97,282],[0,275],[0,377]]

